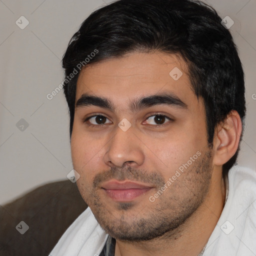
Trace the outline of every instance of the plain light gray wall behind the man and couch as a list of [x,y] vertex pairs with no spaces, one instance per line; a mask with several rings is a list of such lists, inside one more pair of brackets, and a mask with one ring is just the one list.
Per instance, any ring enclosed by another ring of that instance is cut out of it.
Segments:
[[[72,169],[64,95],[60,91],[51,100],[46,95],[64,78],[60,60],[70,37],[107,2],[0,0],[1,204],[38,185],[65,179]],[[247,100],[238,163],[256,169],[256,0],[207,3],[234,21],[230,31],[244,67]],[[29,21],[24,29],[15,23],[20,16]]]

